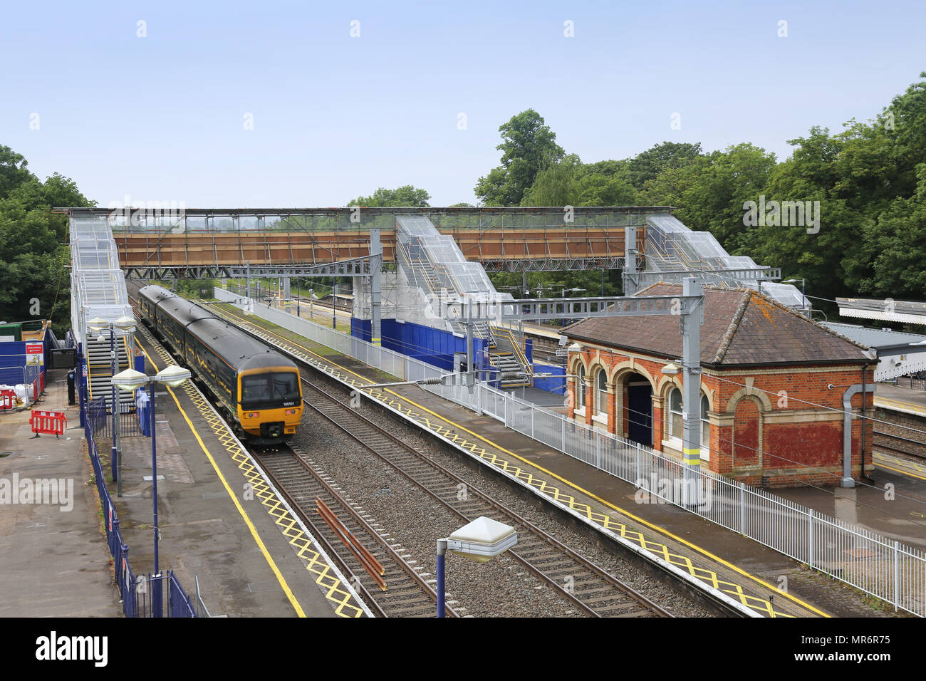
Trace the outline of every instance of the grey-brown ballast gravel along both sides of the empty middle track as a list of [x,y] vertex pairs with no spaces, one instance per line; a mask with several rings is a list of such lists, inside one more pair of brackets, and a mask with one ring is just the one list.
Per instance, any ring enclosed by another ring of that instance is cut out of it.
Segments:
[[[332,391],[332,394],[335,394]],[[344,398],[344,394],[339,395]],[[307,413],[311,413],[307,410]],[[658,584],[642,574],[628,561],[599,546],[556,517],[540,511],[497,482],[491,472],[477,472],[456,457],[434,447],[425,437],[414,434],[409,426],[390,420],[381,425],[408,445],[478,487],[483,493],[518,512],[544,531],[554,535],[585,558],[593,561],[620,580],[637,589],[648,599],[677,617],[709,617],[710,613],[668,586]],[[294,444],[302,448],[311,460],[341,485],[351,498],[381,523],[382,530],[396,538],[412,560],[423,566],[426,579],[434,578],[435,542],[447,536],[461,524],[457,516],[445,510],[417,486],[366,448],[344,435],[324,419],[303,419]],[[460,614],[477,617],[578,617],[584,616],[556,589],[528,573],[517,561],[502,556],[483,564],[449,555],[446,570],[448,600],[457,600],[454,607]]]

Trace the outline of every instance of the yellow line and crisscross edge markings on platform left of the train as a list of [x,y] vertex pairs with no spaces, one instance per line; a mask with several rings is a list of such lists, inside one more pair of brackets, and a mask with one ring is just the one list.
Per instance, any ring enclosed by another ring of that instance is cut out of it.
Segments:
[[[148,341],[151,347],[156,349],[156,352],[161,356],[161,359],[163,359],[166,364],[175,364],[176,362],[172,357],[170,357],[168,351],[159,343],[157,343],[154,338],[148,334],[144,327],[140,328],[142,328],[142,334],[144,334],[145,340]],[[141,345],[139,345],[139,347],[141,347]],[[159,369],[156,361],[152,359],[152,357],[147,352],[145,352],[144,347],[142,347],[142,352],[144,352],[144,356],[148,358],[148,361],[151,362],[152,366],[154,366],[156,369]],[[215,413],[215,410],[212,409],[212,406],[205,399],[203,399],[203,397],[201,397],[200,393],[193,385],[190,385],[190,383],[184,384],[183,390],[186,393],[186,396],[189,397],[191,401],[193,401],[194,406],[200,412],[200,415],[209,424],[209,427],[219,439],[219,444],[225,448],[225,450],[231,455],[232,460],[237,464],[239,470],[244,473],[244,478],[247,480],[247,484],[250,486],[250,490],[254,493],[255,497],[260,499],[261,504],[267,509],[270,516],[273,518],[274,523],[280,527],[282,535],[286,537],[286,540],[295,549],[299,558],[307,563],[306,569],[315,576],[315,583],[319,586],[325,598],[332,602],[332,605],[334,606],[334,612],[341,617],[363,616],[363,610],[359,608],[355,602],[352,602],[354,601],[354,597],[348,591],[345,591],[343,588],[341,588],[341,579],[337,576],[337,574],[334,574],[332,567],[326,561],[322,560],[319,552],[312,548],[312,540],[302,531],[302,528],[299,527],[299,523],[295,521],[290,512],[286,509],[285,506],[283,506],[282,501],[269,487],[267,482],[264,480],[263,475],[257,471],[254,464],[251,462],[250,458],[247,456],[244,450],[238,446],[235,438],[231,433],[229,433],[224,423]],[[232,497],[232,500],[235,503],[235,507],[243,515],[244,522],[247,523],[249,529],[251,530],[251,534],[255,537],[257,546],[260,548],[261,553],[263,553],[264,558],[268,561],[270,569],[277,576],[277,580],[280,582],[280,585],[282,586],[283,592],[286,594],[287,599],[289,599],[293,604],[296,613],[300,617],[305,617],[305,612],[303,612],[302,607],[299,605],[298,601],[295,600],[293,592],[289,585],[286,583],[285,578],[282,576],[280,570],[276,566],[276,563],[269,555],[269,552],[264,546],[263,541],[257,535],[257,529],[254,527],[250,518],[247,516],[247,513],[244,511],[241,503],[235,497],[234,493],[232,492],[232,488],[225,482],[224,476],[219,471],[218,464],[209,453],[206,445],[196,433],[193,422],[190,421],[189,417],[186,415],[186,412],[181,408],[180,401],[177,399],[177,396],[174,394],[173,390],[168,388],[168,391],[171,397],[174,398],[174,401],[177,402],[177,408],[181,411],[183,418],[190,426],[190,429],[193,431],[197,441],[199,441],[200,447],[206,453],[206,457],[212,464],[213,469],[219,475],[219,479],[225,486],[229,496]]]

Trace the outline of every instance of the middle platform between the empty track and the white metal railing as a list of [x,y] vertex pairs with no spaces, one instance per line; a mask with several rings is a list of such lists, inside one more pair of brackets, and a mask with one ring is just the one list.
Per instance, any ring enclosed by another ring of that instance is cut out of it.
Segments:
[[[266,324],[255,316],[237,316],[234,321],[243,327]],[[266,328],[281,331],[269,324]],[[346,385],[378,384],[389,379],[357,359],[292,332],[285,338],[297,354]],[[546,448],[492,417],[477,416],[416,385],[367,392],[469,456],[608,532],[630,539],[754,612],[785,617],[885,614],[852,595],[842,583],[753,540],[669,504],[639,503],[631,484]],[[782,585],[786,585],[786,593],[779,589]]]

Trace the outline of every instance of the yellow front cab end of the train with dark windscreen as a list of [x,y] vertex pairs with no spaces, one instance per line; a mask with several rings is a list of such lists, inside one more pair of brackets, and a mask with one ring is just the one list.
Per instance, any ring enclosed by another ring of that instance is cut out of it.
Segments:
[[248,435],[294,435],[302,419],[302,385],[293,367],[260,367],[238,373],[238,422]]

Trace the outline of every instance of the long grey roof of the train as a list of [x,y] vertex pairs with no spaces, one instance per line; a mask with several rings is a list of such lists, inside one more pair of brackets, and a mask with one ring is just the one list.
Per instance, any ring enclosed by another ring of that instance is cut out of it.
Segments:
[[191,334],[206,343],[239,372],[263,367],[295,369],[292,359],[245,334],[231,322],[216,317],[201,305],[191,303],[162,286],[144,286],[139,290],[139,295],[155,302],[159,309],[183,324]]

